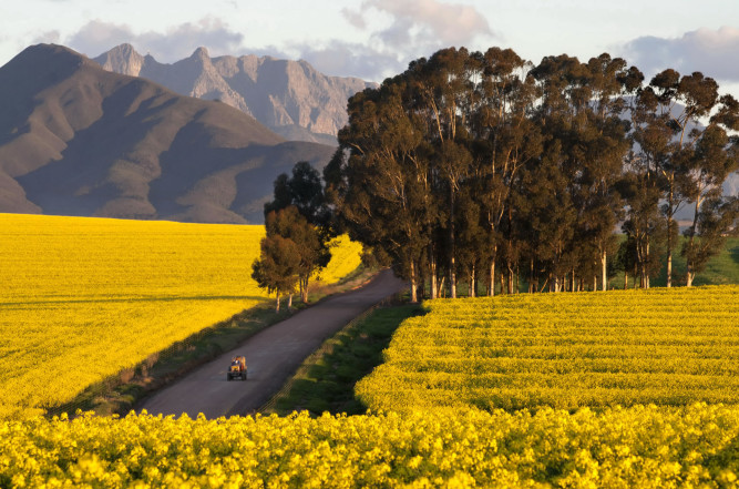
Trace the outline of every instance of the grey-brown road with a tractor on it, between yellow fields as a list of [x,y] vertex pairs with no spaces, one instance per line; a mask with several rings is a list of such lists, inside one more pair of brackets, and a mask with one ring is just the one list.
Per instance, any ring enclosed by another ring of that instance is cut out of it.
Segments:
[[[302,360],[353,317],[404,286],[390,271],[366,286],[301,310],[197,368],[146,399],[138,409],[150,414],[208,419],[256,411],[277,393]],[[234,355],[246,356],[248,379],[226,380]]]

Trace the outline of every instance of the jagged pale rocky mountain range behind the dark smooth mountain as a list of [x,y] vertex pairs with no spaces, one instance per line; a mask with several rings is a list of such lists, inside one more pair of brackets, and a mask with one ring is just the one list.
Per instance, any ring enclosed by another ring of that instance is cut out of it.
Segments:
[[198,48],[172,64],[121,44],[94,59],[105,70],[142,77],[182,95],[219,100],[287,140],[336,145],[347,124],[347,101],[377,83],[327,77],[306,61],[244,55],[211,58]]

